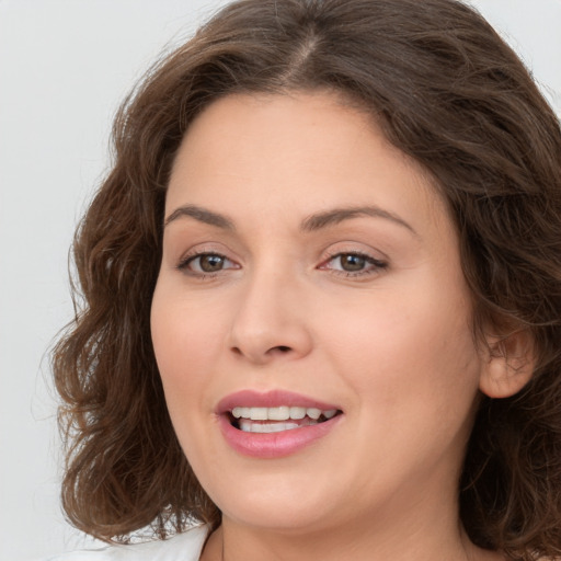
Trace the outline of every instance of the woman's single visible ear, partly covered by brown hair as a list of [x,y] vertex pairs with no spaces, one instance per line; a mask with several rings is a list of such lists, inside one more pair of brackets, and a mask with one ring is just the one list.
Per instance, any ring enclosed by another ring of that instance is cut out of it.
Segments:
[[536,366],[534,337],[528,330],[486,337],[488,355],[479,389],[490,398],[508,398],[530,380]]

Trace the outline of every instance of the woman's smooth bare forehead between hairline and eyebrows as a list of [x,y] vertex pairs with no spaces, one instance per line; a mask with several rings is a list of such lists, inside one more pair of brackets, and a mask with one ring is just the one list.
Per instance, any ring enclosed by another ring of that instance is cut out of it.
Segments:
[[180,147],[167,214],[186,203],[225,214],[376,204],[432,221],[447,216],[428,174],[375,118],[324,92],[237,94],[210,104]]

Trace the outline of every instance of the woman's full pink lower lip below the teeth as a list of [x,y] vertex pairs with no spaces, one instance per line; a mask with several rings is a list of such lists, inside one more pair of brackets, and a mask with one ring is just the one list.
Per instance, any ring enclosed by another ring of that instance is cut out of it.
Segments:
[[239,454],[254,458],[282,458],[327,436],[342,416],[339,414],[323,423],[279,433],[245,433],[233,427],[227,415],[219,415],[219,425],[226,442]]

